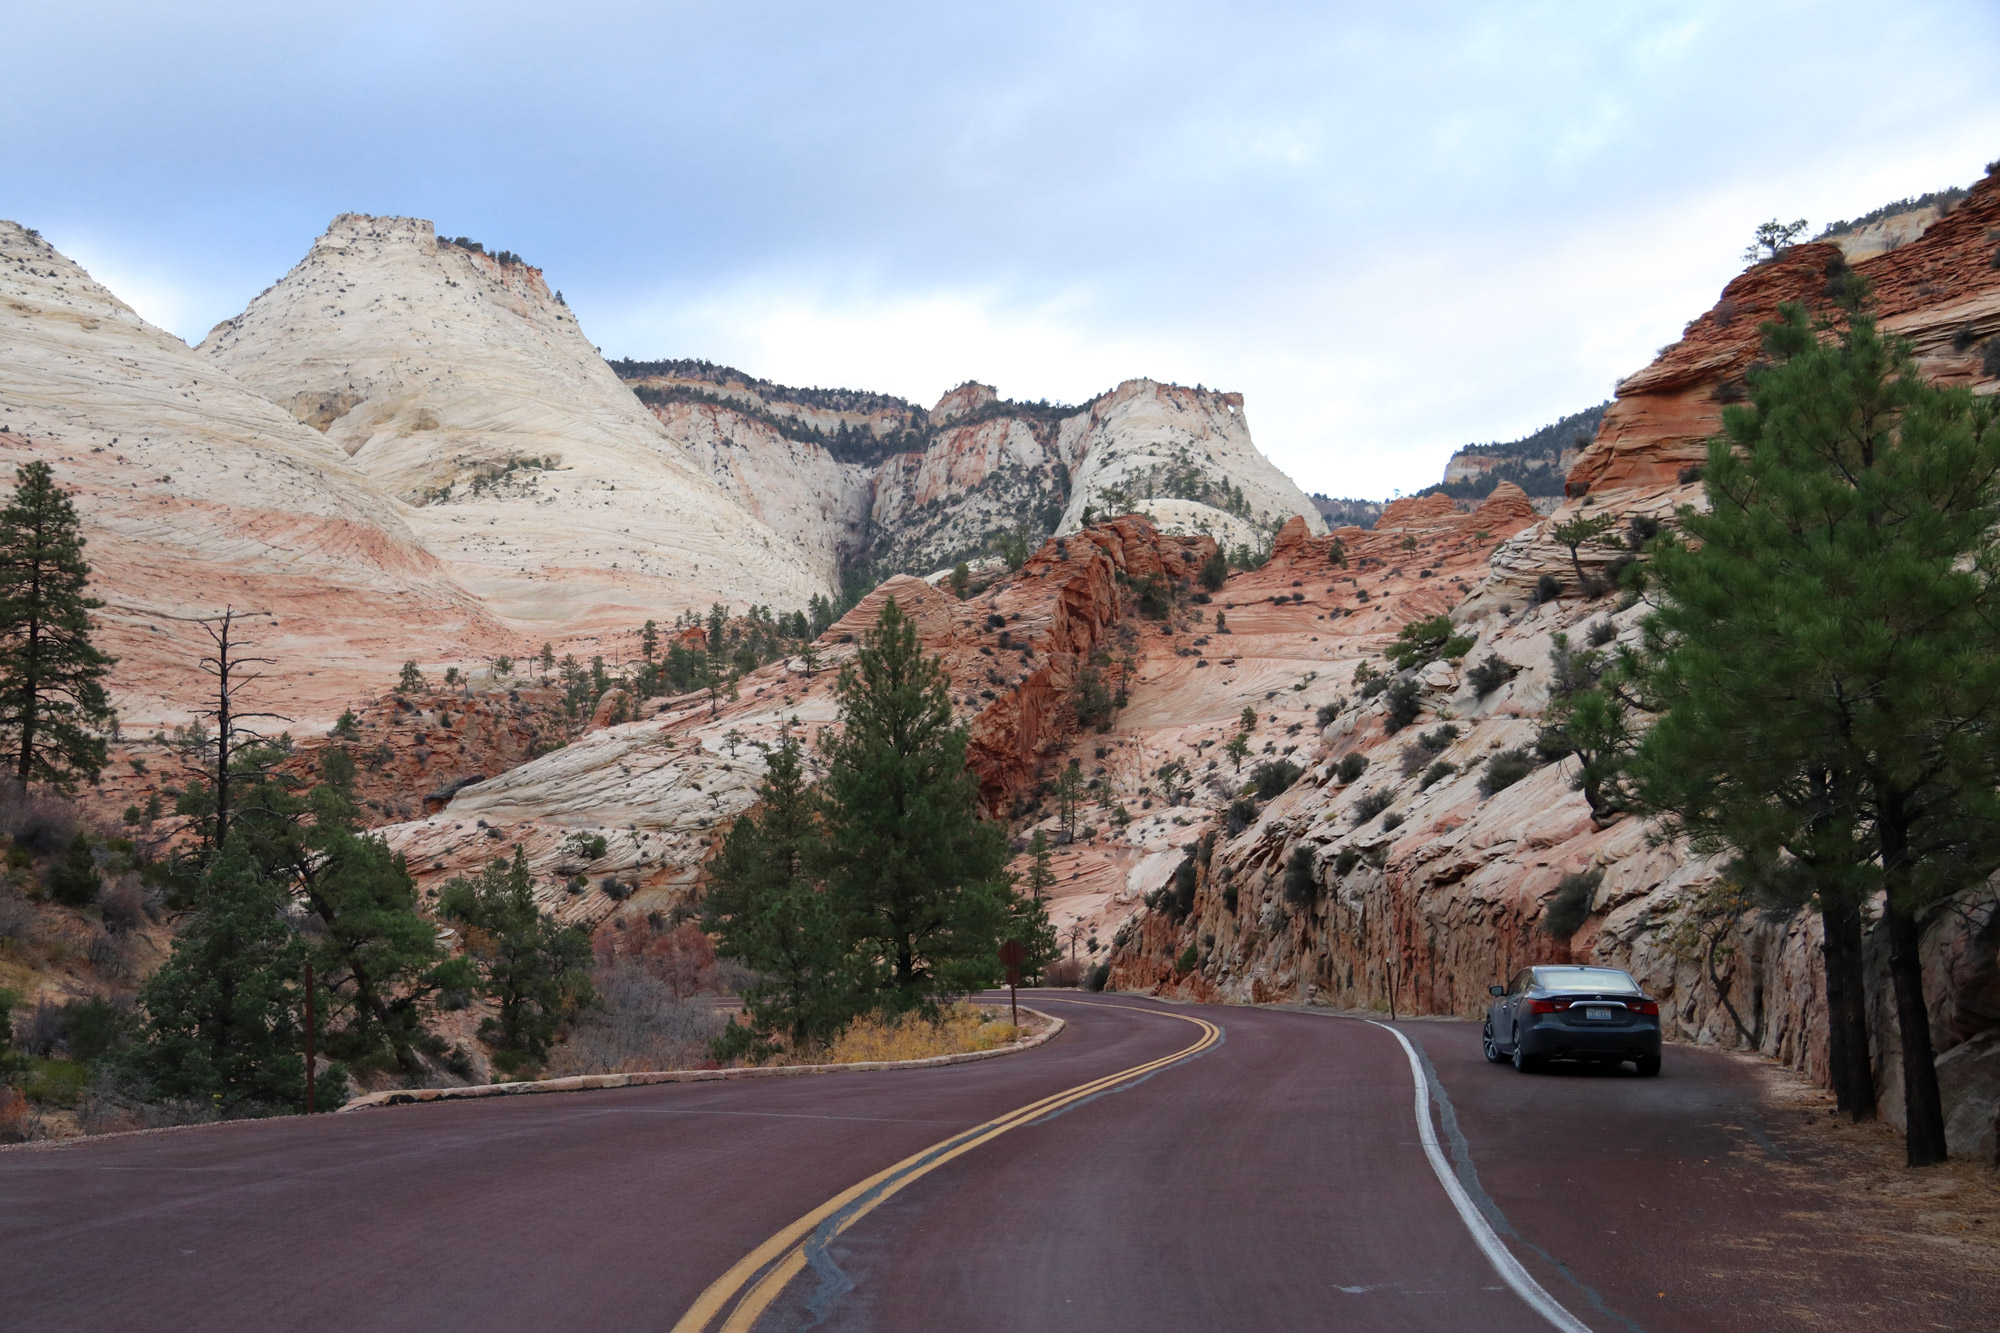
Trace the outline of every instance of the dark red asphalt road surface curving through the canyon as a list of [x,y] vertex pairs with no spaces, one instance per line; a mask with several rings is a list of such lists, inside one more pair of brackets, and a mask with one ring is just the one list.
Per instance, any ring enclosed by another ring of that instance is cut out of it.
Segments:
[[[758,1327],[1552,1327],[1502,1283],[1438,1183],[1392,1033],[1122,995],[1032,1003],[1068,1031],[948,1069],[12,1149],[0,1329],[668,1329],[730,1265],[856,1181],[1188,1047],[1200,1033],[1174,1015],[1220,1025],[1222,1045],[914,1179]],[[1402,1031],[1436,1071],[1458,1179],[1584,1325],[1786,1325],[1750,1299],[1776,1261],[1728,1259],[1732,1229],[1768,1245],[1774,1209],[1798,1207],[1744,1165],[1744,1143],[1768,1139],[1738,1065],[1668,1047],[1660,1079],[1524,1077],[1480,1059],[1474,1025]],[[1852,1265],[1824,1281],[1826,1311],[1878,1295]],[[1980,1327],[1976,1307],[1966,1315]],[[1862,1325],[1830,1313],[1812,1327]]]

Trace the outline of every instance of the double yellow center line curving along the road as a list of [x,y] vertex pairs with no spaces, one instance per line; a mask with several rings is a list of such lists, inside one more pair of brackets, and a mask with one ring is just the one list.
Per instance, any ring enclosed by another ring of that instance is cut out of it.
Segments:
[[[756,1321],[764,1317],[764,1311],[770,1309],[770,1303],[778,1299],[784,1287],[806,1267],[808,1247],[824,1247],[910,1181],[936,1171],[944,1163],[960,1157],[962,1153],[970,1153],[982,1143],[998,1139],[1010,1129],[1020,1129],[1022,1125],[1054,1115],[1056,1111],[1064,1111],[1066,1107],[1098,1097],[1100,1093],[1110,1093],[1124,1083],[1154,1075],[1168,1065],[1194,1059],[1222,1041],[1222,1029],[1208,1019],[1164,1013],[1158,1009],[1138,1009],[1136,1005],[1102,1007],[1136,1009],[1138,1013],[1150,1013],[1162,1019],[1178,1019],[1180,1023],[1192,1023],[1202,1031],[1202,1035],[1192,1045],[1182,1047],[1172,1055],[1162,1055],[1156,1061],[1134,1065],[1132,1069],[1122,1069],[1114,1075],[1092,1079],[1090,1083],[1078,1083],[1072,1089],[1028,1103],[1018,1111],[1008,1111],[1006,1115],[990,1119],[984,1125],[974,1125],[964,1133],[952,1135],[942,1143],[934,1143],[920,1153],[904,1157],[894,1167],[876,1171],[858,1185],[850,1185],[738,1259],[728,1273],[710,1283],[694,1305],[688,1307],[688,1313],[674,1325],[674,1333],[706,1333],[732,1301],[736,1307],[730,1309],[728,1319],[722,1323],[722,1333],[748,1333],[756,1327]],[[738,1293],[742,1299],[738,1299]]]

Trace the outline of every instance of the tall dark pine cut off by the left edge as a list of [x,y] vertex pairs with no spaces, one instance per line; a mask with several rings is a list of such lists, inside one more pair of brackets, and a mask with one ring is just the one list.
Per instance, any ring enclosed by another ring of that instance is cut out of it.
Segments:
[[14,779],[70,791],[104,771],[116,658],[90,642],[90,566],[70,494],[42,460],[14,470],[0,508],[0,735]]

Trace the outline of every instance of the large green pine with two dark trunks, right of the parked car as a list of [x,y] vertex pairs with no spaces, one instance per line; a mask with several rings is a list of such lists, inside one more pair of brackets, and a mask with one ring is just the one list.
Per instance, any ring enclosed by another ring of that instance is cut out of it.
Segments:
[[1944,1117],[1918,943],[1924,915],[2000,865],[2000,428],[1992,400],[1924,384],[1856,310],[1786,306],[1772,364],[1724,412],[1696,538],[1650,566],[1642,685],[1664,717],[1632,773],[1696,847],[1818,905],[1836,1087],[1866,1079],[1860,913],[1884,895],[1910,1165]]

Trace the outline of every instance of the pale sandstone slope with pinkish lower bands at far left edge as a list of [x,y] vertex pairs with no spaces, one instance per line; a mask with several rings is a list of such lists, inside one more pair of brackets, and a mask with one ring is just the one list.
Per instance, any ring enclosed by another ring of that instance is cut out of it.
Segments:
[[304,719],[502,640],[346,452],[0,222],[0,462],[28,458],[76,492],[128,727],[186,721],[226,606],[270,612],[254,638]]

